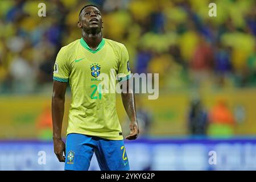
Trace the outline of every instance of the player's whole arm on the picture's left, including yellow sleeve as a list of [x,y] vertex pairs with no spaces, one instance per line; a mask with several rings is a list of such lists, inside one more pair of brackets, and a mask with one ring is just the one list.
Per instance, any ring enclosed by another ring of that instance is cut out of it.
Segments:
[[69,78],[69,65],[65,50],[60,49],[53,68],[53,93],[52,93],[52,126],[54,152],[60,162],[65,162],[65,143],[61,139],[63,123],[65,92]]

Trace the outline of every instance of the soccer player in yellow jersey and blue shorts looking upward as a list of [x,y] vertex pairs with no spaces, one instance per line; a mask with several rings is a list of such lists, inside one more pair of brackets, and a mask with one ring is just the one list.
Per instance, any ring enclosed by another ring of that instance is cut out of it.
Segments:
[[[77,24],[82,38],[60,49],[53,68],[53,144],[57,158],[65,162],[65,170],[88,170],[94,152],[101,170],[130,169],[115,108],[115,93],[102,92],[100,84],[100,75],[110,77],[110,69],[122,82],[120,85],[127,86],[126,89],[121,86],[123,106],[130,118],[130,134],[126,139],[136,139],[139,134],[134,94],[127,92],[131,90],[127,49],[121,43],[102,38],[102,24],[98,7],[84,6]],[[72,103],[65,146],[61,126],[67,82],[71,86]]]

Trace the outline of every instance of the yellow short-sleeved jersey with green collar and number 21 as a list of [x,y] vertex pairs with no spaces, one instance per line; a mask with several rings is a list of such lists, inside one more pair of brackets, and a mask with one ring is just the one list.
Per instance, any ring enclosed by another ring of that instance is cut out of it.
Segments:
[[69,82],[71,86],[67,134],[123,139],[115,92],[102,92],[102,80],[113,84],[113,79],[110,83],[113,74],[117,78],[114,82],[125,81],[131,76],[129,55],[121,43],[102,38],[97,49],[92,50],[81,38],[60,49],[53,67],[53,80]]

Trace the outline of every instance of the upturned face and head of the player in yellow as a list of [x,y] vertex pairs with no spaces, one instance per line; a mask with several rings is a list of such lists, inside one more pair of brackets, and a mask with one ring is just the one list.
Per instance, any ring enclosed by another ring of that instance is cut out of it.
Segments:
[[102,28],[101,12],[97,7],[89,6],[80,15],[81,28]]

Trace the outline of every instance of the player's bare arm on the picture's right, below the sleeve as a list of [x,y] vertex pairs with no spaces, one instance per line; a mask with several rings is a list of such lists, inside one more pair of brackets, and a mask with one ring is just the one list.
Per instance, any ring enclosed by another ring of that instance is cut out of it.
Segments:
[[130,125],[129,125],[130,134],[126,137],[126,139],[134,140],[139,135],[139,126],[138,126],[137,117],[136,117],[135,97],[134,97],[133,90],[129,88],[129,80],[125,82],[126,82],[127,90],[124,88],[121,88],[122,91],[126,91],[126,92],[122,92],[121,96],[122,96],[123,106],[125,107],[125,111],[130,119]]

